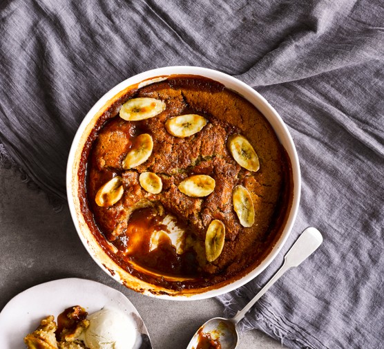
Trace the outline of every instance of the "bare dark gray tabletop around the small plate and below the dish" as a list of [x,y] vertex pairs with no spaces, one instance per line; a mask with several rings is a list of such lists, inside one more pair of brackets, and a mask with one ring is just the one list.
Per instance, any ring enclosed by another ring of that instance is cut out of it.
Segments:
[[[28,287],[75,276],[124,293],[140,312],[154,349],[186,348],[202,323],[210,317],[222,316],[222,305],[216,299],[164,301],[119,285],[86,252],[68,207],[55,213],[46,196],[28,189],[12,169],[0,168],[0,212],[0,311]],[[256,330],[240,335],[239,349],[256,346],[283,348],[278,341]]]

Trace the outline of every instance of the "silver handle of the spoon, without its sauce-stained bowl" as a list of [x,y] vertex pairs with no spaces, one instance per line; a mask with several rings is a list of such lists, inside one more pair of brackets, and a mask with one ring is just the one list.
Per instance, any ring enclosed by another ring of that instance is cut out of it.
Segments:
[[262,287],[260,292],[253,297],[253,299],[244,307],[244,309],[240,310],[235,317],[233,317],[233,322],[238,323],[242,320],[247,314],[247,312],[253,307],[253,305],[260,299],[260,297],[265,294],[269,290],[269,287],[273,285],[280,276],[287,272],[291,267],[297,267],[305,261],[323,242],[323,236],[321,236],[318,229],[314,227],[309,227],[305,229],[305,231],[298,237],[294,245],[289,249],[287,254],[284,257],[284,263],[280,267],[280,269],[273,275],[272,279],[268,281],[268,283]]

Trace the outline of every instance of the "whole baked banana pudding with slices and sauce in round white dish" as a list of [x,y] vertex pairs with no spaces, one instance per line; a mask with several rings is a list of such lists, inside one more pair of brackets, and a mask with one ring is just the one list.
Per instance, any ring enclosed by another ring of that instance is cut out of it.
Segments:
[[219,82],[171,75],[130,86],[84,144],[81,214],[108,258],[153,293],[240,279],[282,234],[289,156],[262,113]]

